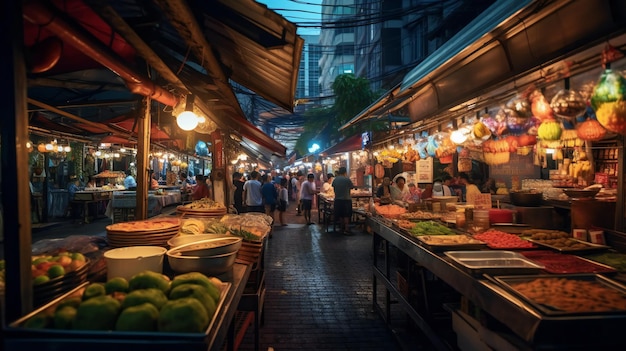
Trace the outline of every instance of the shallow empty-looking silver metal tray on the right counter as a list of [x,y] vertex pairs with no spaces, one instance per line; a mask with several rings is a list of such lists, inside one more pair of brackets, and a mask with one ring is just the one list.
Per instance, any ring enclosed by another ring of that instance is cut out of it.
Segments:
[[472,274],[532,274],[544,268],[513,251],[446,251],[444,254]]

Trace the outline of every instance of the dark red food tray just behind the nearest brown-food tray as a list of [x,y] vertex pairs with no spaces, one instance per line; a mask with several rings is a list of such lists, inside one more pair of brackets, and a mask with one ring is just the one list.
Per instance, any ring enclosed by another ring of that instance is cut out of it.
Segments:
[[611,266],[554,251],[527,251],[522,252],[522,255],[543,264],[544,270],[553,274],[617,273],[617,270]]

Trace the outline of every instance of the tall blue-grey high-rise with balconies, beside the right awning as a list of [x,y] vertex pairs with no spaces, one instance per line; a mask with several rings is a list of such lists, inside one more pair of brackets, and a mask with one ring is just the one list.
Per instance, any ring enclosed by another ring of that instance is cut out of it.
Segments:
[[375,91],[392,88],[493,2],[325,0],[322,94],[332,94],[334,78],[348,72],[367,78]]

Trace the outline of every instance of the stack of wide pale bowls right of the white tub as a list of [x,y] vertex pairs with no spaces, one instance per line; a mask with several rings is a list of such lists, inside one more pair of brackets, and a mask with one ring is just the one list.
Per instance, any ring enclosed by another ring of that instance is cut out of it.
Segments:
[[175,246],[166,252],[170,268],[176,273],[226,273],[237,258],[242,238],[223,236]]

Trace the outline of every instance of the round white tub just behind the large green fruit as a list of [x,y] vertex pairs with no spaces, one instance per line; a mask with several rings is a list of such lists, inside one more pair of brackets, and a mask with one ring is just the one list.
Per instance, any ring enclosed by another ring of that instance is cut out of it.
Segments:
[[107,280],[114,277],[130,279],[143,271],[163,273],[166,252],[167,249],[160,246],[129,246],[106,251]]

